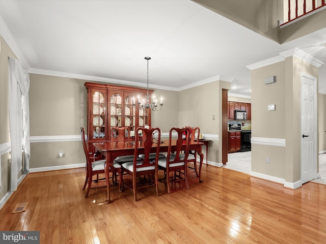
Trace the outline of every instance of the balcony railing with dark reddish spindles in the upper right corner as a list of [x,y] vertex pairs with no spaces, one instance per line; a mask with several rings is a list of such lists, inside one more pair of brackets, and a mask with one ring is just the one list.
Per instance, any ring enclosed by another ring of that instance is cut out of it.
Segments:
[[287,20],[286,16],[284,16],[284,23],[281,24],[281,26],[295,19],[308,15],[313,11],[319,10],[320,8],[326,6],[325,1],[326,0],[288,0],[288,7],[284,6],[284,12],[286,13],[286,9],[288,10]]

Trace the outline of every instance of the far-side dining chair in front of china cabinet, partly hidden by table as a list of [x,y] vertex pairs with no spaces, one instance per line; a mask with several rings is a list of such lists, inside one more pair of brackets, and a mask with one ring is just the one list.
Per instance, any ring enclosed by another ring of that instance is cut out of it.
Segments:
[[[129,127],[111,127],[111,138],[112,141],[116,141],[118,143],[127,141],[129,144],[131,142]],[[130,162],[132,160],[133,160],[133,155],[119,156],[113,160],[113,165],[118,166],[123,163]],[[141,159],[138,157],[137,160],[141,160]],[[112,177],[112,182],[114,185],[118,184],[117,173],[120,172],[121,172],[121,167],[114,168],[114,172],[113,172],[114,178]]]

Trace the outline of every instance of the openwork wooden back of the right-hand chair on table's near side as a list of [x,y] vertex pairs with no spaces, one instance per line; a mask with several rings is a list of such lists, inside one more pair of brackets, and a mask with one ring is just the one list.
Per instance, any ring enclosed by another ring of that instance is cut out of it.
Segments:
[[[172,134],[176,132],[177,133],[177,139],[176,139],[176,147],[175,149],[172,149]],[[183,139],[183,135],[185,134],[185,138]],[[189,154],[189,138],[190,138],[190,133],[189,133],[189,128],[171,128],[170,133],[169,133],[169,148],[168,148],[168,155],[167,155],[167,168],[169,167],[169,164],[174,164],[174,163],[180,163],[180,162],[185,162]],[[185,148],[182,148],[182,146],[185,145]],[[184,157],[181,157],[180,155],[183,155],[184,151]],[[171,158],[171,154],[175,157]],[[173,159],[170,161],[170,158]]]

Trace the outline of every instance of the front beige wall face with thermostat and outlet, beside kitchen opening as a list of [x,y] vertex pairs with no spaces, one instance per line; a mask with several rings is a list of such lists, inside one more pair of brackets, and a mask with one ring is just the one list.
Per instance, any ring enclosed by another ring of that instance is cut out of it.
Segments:
[[[276,76],[276,82],[265,84],[265,77]],[[252,137],[285,138],[285,69],[284,62],[251,71]],[[275,111],[267,111],[275,104]],[[285,178],[285,148],[252,144],[251,170]],[[266,164],[270,157],[270,164]]]

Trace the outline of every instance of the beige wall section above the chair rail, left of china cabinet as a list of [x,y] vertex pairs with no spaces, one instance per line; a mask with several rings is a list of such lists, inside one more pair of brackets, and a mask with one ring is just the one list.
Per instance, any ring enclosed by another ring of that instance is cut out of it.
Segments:
[[85,80],[30,74],[31,136],[78,135],[87,127]]

